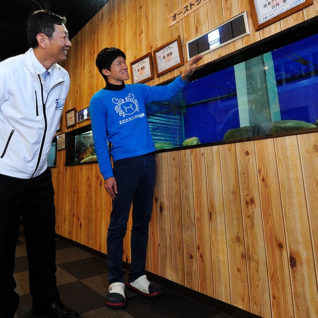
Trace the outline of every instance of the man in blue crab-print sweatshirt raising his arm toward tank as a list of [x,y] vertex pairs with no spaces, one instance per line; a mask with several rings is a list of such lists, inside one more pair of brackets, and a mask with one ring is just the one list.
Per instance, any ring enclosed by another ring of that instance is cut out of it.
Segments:
[[159,286],[150,283],[144,274],[156,182],[156,148],[145,104],[176,95],[201,59],[202,55],[198,55],[189,60],[173,82],[149,86],[124,83],[130,77],[125,53],[120,49],[104,48],[97,55],[96,66],[106,86],[92,96],[89,112],[104,187],[113,199],[107,233],[108,307],[126,306],[122,252],[131,204],[131,264],[126,287],[148,298],[161,294]]

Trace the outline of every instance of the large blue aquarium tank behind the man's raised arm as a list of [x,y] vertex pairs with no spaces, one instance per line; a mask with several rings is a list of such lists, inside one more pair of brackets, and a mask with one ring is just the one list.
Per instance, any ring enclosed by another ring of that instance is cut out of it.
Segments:
[[312,35],[188,82],[172,100],[148,104],[156,148],[317,129],[317,43]]

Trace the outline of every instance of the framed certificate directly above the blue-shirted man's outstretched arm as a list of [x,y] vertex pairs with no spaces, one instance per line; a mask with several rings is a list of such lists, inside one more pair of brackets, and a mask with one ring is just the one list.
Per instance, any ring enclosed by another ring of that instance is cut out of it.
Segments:
[[157,77],[183,65],[180,35],[154,50],[154,61]]

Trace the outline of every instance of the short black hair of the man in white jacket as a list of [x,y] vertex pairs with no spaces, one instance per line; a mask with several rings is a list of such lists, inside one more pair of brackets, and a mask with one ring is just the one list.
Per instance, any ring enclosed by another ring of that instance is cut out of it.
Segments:
[[37,10],[28,18],[27,22],[27,38],[30,48],[36,48],[39,43],[36,36],[43,33],[50,39],[55,31],[55,24],[66,24],[66,18],[48,10]]

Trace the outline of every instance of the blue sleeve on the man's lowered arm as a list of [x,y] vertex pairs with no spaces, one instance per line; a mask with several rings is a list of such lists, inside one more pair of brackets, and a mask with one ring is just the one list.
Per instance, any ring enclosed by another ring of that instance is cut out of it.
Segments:
[[114,176],[107,143],[107,112],[100,98],[93,96],[89,103],[95,153],[104,180]]

